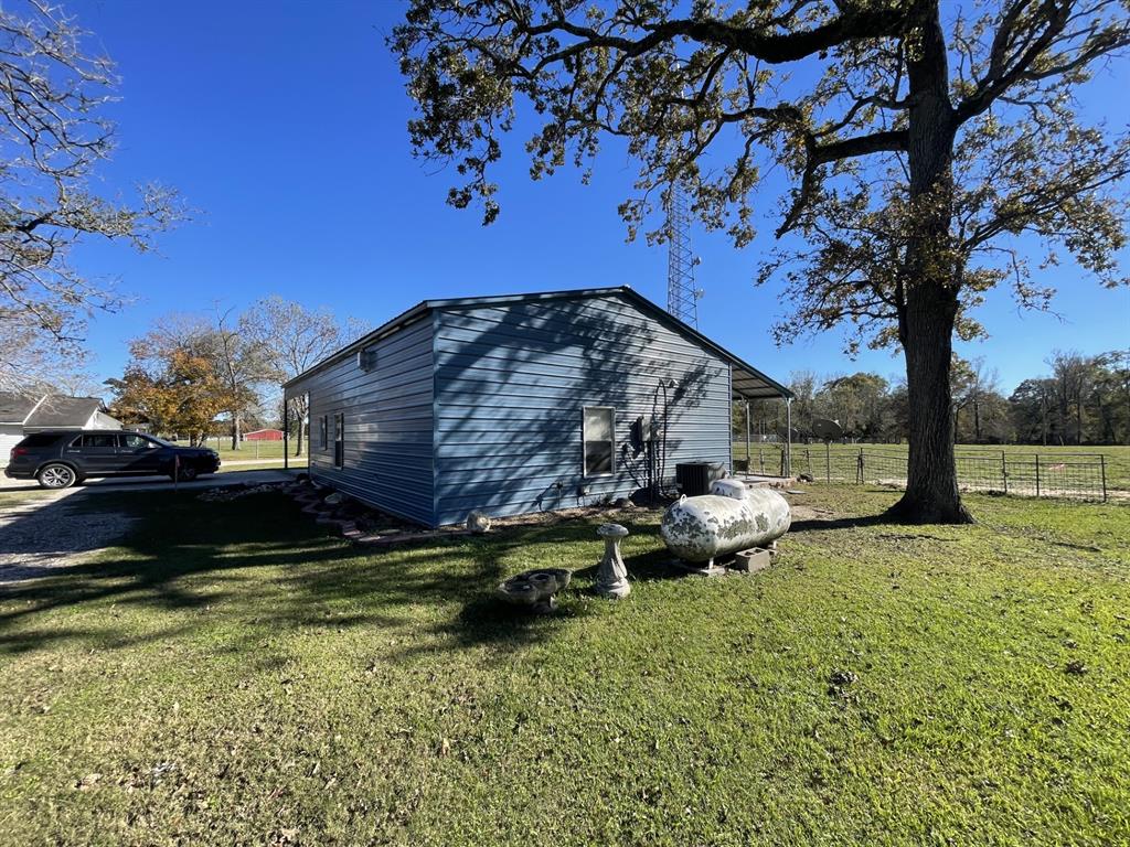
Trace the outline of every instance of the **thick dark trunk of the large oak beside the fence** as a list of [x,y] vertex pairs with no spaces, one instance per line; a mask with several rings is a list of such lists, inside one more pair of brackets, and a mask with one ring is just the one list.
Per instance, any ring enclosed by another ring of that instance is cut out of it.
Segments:
[[954,460],[949,386],[960,257],[950,244],[954,138],[949,66],[937,0],[919,3],[920,43],[907,63],[906,163],[915,229],[906,245],[898,335],[906,356],[910,452],[906,492],[888,514],[911,523],[971,523]]

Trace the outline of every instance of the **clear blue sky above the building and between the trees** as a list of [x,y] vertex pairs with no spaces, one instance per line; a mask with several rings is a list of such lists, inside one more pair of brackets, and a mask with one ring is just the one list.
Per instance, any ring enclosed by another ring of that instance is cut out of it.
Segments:
[[[384,36],[395,2],[68,2],[118,62],[121,99],[115,158],[101,173],[108,194],[137,182],[176,186],[199,210],[162,236],[159,255],[90,244],[86,273],[119,279],[134,297],[98,315],[88,339],[98,378],[121,372],[127,343],[167,312],[243,308],[278,294],[374,323],[432,297],[631,285],[666,302],[667,255],[625,243],[617,203],[634,164],[601,156],[584,186],[573,171],[531,182],[521,137],[506,140],[503,212],[487,228],[477,211],[444,203],[451,175],[412,159],[411,114]],[[1130,120],[1127,63],[1103,72],[1084,98],[1089,114]],[[1122,82],[1119,84],[1121,76]],[[721,234],[694,232],[702,256],[699,328],[779,378],[797,369],[902,373],[902,359],[864,352],[850,361],[835,333],[776,348],[768,326],[783,306],[755,288],[772,245],[772,191],[757,241],[737,251]],[[1124,256],[1125,261],[1125,256]],[[1042,373],[1054,348],[1101,352],[1130,344],[1130,289],[1102,289],[1070,264],[1046,280],[1060,317],[1020,313],[1007,292],[979,312],[992,334],[963,344],[1000,374],[1006,393]]]

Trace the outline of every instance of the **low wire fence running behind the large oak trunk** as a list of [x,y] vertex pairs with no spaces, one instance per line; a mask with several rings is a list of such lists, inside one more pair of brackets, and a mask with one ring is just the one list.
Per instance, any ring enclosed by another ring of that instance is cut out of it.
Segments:
[[[1103,454],[1048,456],[1006,451],[959,451],[957,483],[963,491],[1062,497],[1106,501],[1110,497]],[[758,451],[746,468],[751,473],[784,474],[784,455]],[[742,463],[738,463],[739,465]],[[812,481],[855,484],[906,484],[906,454],[875,447],[844,451],[819,445],[792,448],[792,472]]]

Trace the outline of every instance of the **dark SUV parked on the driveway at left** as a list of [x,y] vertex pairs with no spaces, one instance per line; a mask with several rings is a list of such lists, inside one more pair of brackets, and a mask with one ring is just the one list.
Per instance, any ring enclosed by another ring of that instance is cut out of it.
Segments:
[[42,488],[68,488],[87,477],[165,474],[192,480],[219,469],[219,454],[177,447],[151,435],[106,429],[33,433],[11,448],[5,475],[37,479]]

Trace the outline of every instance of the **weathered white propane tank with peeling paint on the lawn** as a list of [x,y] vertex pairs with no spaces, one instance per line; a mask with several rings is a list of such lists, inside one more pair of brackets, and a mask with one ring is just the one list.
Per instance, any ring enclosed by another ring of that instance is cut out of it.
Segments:
[[750,547],[767,547],[789,531],[789,501],[768,488],[716,480],[709,495],[680,497],[663,514],[659,532],[668,549],[690,562]]

